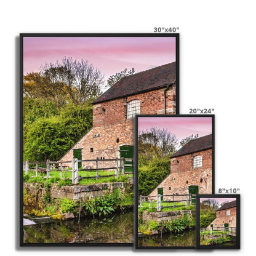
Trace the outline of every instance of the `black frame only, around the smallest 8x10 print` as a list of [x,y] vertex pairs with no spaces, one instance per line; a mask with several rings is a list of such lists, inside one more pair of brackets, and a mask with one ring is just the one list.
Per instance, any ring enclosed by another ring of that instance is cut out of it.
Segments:
[[[200,244],[200,199],[213,198],[213,199],[228,199],[236,198],[236,245],[202,245]],[[240,249],[240,194],[198,194],[196,196],[196,249],[209,250],[209,249]]]

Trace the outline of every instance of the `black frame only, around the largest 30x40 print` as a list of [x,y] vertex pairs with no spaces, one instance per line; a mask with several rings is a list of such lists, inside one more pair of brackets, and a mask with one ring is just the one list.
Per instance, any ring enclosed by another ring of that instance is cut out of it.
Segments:
[[40,37],[172,37],[175,38],[176,47],[176,113],[179,113],[179,34],[178,33],[20,33],[20,246],[121,246],[131,247],[133,243],[25,243],[23,242],[23,39]]

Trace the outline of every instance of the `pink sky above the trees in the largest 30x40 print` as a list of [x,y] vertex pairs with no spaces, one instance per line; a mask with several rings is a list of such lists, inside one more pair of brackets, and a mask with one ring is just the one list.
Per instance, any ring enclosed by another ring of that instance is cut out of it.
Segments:
[[38,37],[24,38],[23,73],[64,56],[88,60],[105,79],[124,68],[135,73],[175,61],[175,38],[169,37]]

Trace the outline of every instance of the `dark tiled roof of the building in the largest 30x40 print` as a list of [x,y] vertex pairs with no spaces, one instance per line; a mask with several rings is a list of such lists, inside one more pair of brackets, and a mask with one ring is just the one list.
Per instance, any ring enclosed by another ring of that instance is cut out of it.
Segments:
[[174,84],[175,81],[176,62],[157,66],[156,68],[151,68],[151,70],[145,70],[122,78],[98,97],[93,104],[158,89]]

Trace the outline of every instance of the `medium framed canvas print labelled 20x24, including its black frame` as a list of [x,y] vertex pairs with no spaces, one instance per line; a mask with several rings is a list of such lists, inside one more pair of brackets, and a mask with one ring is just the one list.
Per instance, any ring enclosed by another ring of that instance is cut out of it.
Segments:
[[196,194],[214,191],[214,115],[136,116],[136,249],[195,249]]

